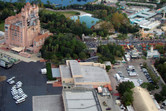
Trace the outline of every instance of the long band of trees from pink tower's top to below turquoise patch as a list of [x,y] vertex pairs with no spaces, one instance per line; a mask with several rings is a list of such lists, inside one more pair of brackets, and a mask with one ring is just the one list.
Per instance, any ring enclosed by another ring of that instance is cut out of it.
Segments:
[[99,29],[87,28],[85,23],[81,23],[78,20],[74,22],[70,18],[66,18],[64,15],[59,13],[46,13],[45,10],[39,12],[41,27],[48,29],[52,33],[73,33],[81,37],[82,34],[90,35],[95,33],[96,35],[107,37],[109,32],[112,32],[112,23],[103,22]]

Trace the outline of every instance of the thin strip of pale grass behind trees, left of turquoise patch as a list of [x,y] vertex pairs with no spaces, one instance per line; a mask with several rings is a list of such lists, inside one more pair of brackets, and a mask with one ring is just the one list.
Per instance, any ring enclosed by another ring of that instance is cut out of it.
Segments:
[[49,13],[49,14],[59,13],[59,14],[63,14],[66,18],[70,16],[74,16],[74,15],[80,15],[80,13],[76,11],[54,12],[50,10],[45,10],[45,13]]

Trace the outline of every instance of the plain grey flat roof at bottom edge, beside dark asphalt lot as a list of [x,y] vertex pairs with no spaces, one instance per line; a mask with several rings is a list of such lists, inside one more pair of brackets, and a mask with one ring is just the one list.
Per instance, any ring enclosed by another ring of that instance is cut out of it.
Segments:
[[33,111],[64,111],[61,95],[33,96]]

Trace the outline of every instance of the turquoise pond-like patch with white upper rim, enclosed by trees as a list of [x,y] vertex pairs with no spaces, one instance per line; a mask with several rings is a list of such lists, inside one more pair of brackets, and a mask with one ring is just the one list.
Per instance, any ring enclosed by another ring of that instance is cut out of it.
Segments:
[[71,19],[76,21],[79,18],[81,23],[86,23],[86,26],[88,28],[91,28],[93,25],[95,25],[100,19],[92,17],[91,14],[85,14],[81,16],[72,16]]

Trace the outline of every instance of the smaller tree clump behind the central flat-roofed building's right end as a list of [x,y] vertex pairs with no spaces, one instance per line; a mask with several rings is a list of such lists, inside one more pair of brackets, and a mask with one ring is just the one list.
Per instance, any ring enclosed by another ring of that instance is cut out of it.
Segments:
[[116,44],[100,45],[97,48],[97,53],[99,54],[99,62],[111,61],[114,64],[115,56],[122,57],[124,49],[122,46]]

